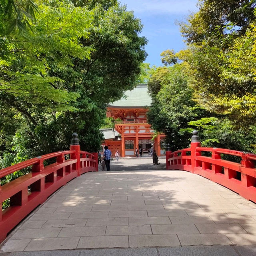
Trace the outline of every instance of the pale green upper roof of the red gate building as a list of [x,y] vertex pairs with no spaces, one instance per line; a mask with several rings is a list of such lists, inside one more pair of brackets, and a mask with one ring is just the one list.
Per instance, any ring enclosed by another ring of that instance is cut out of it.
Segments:
[[148,86],[146,84],[140,84],[131,91],[124,93],[126,98],[117,100],[114,103],[110,103],[109,106],[115,107],[144,107],[150,106],[152,100],[148,94]]

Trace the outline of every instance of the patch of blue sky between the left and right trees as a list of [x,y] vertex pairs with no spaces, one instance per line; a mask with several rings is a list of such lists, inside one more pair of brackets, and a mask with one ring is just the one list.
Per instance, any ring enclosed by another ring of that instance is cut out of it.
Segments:
[[145,62],[162,66],[160,54],[164,50],[184,49],[183,38],[176,21],[184,21],[190,12],[198,10],[197,0],[119,0],[134,10],[134,16],[140,18],[144,28],[141,35],[148,38]]

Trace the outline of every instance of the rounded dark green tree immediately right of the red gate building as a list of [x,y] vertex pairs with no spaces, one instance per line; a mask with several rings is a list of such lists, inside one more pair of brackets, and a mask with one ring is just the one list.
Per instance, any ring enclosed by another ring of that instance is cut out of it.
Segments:
[[157,79],[152,76],[149,81],[149,85],[156,82],[159,87],[154,90],[148,120],[156,132],[166,134],[166,142],[170,143],[172,150],[188,147],[191,135],[184,134],[182,129],[186,129],[188,122],[201,118],[206,112],[198,108],[192,99],[193,89],[188,86],[183,64],[168,69],[159,68],[158,72],[160,74]]

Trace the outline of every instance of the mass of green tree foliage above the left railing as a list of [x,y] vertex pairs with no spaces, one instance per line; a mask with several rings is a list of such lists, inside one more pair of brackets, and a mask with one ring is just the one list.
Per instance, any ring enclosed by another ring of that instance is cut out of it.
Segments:
[[[136,86],[146,58],[140,20],[116,0],[19,3],[34,14],[21,10],[27,26],[0,35],[1,155],[64,150],[73,132],[83,150],[98,150],[106,105]],[[18,17],[10,10],[3,31]]]

